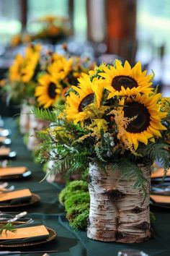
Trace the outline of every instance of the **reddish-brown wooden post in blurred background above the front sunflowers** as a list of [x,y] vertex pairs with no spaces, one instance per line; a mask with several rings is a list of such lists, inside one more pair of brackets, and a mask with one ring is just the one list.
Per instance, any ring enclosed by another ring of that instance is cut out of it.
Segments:
[[133,64],[136,50],[136,0],[106,0],[107,51]]

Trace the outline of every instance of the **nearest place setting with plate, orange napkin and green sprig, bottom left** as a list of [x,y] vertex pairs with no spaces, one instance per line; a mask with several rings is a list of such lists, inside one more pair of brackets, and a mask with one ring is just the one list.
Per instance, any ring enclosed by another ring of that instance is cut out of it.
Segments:
[[0,212],[0,248],[40,246],[56,236],[56,232],[42,221],[27,217],[27,211]]

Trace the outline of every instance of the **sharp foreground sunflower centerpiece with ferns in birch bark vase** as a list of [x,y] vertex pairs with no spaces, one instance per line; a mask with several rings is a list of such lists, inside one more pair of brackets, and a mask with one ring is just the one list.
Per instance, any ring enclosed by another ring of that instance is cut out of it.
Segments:
[[54,171],[89,174],[91,239],[132,243],[151,236],[151,164],[160,161],[165,174],[170,166],[170,101],[152,80],[140,63],[116,60],[83,74],[57,116],[35,111],[55,127],[39,133],[39,160],[52,159]]

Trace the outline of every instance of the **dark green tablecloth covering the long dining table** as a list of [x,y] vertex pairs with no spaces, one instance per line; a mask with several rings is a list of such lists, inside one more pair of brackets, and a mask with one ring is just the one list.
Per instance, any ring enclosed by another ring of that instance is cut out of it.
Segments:
[[[22,137],[17,130],[14,119],[6,119],[5,126],[6,128],[12,129],[11,148],[12,150],[17,150],[17,159],[12,162],[12,166],[24,165],[32,171],[31,179],[25,181],[12,181],[9,182],[9,184],[13,184],[16,188],[28,187],[32,192],[40,195],[40,203],[27,208],[29,216],[31,218],[42,220],[46,226],[54,229],[58,234],[56,239],[52,242],[42,244],[40,247],[22,248],[20,250],[58,249],[57,253],[50,253],[50,255],[58,256],[117,256],[117,252],[122,249],[132,248],[146,252],[148,255],[170,255],[170,211],[168,209],[153,209],[156,214],[156,223],[153,226],[153,236],[150,240],[140,244],[96,242],[87,239],[85,231],[75,231],[71,229],[65,218],[63,208],[58,203],[58,193],[61,187],[45,181],[40,182],[44,176],[42,166],[33,162],[32,153],[30,153],[23,145]],[[28,255],[34,254],[30,253]]]

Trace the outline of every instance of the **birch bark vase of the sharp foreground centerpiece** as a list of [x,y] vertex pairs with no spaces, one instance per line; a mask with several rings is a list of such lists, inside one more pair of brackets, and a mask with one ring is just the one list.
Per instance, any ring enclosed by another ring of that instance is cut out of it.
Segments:
[[90,164],[91,198],[87,236],[103,242],[137,243],[149,239],[151,166],[140,165],[148,180],[147,195],[132,189],[135,179],[120,179],[119,170]]

